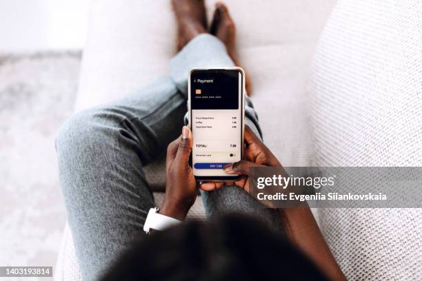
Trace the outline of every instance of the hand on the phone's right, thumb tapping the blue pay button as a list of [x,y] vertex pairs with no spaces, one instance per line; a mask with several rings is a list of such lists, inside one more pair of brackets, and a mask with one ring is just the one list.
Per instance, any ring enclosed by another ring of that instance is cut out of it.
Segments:
[[249,192],[249,168],[250,167],[265,167],[265,166],[277,166],[281,167],[279,160],[270,152],[270,149],[266,147],[261,140],[252,132],[252,129],[245,125],[245,149],[243,154],[243,160],[239,162],[226,165],[224,171],[227,174],[243,175],[240,180],[236,182],[225,182],[225,183],[203,183],[200,187],[203,190],[211,191],[223,185],[236,185],[245,189]]

